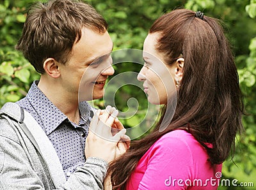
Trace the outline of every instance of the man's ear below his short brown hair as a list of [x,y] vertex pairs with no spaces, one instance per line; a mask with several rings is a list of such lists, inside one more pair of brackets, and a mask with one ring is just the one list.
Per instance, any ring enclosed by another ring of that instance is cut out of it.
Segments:
[[58,66],[58,62],[53,58],[47,58],[44,61],[44,69],[45,73],[47,73],[52,78],[60,77],[60,69]]

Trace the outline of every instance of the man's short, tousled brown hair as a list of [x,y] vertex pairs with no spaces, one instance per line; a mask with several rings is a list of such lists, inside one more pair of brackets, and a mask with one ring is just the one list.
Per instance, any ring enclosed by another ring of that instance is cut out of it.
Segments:
[[16,45],[38,73],[44,73],[44,61],[51,57],[65,64],[81,29],[88,27],[104,33],[106,20],[89,4],[75,0],[50,0],[36,3],[28,10],[22,36]]

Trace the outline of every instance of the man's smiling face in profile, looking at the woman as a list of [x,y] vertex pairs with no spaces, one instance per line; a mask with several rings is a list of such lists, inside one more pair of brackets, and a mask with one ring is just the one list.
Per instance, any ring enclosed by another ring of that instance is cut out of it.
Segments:
[[81,39],[75,44],[67,64],[61,66],[63,85],[79,101],[102,98],[109,75],[114,74],[110,53],[113,42],[106,33],[82,29]]

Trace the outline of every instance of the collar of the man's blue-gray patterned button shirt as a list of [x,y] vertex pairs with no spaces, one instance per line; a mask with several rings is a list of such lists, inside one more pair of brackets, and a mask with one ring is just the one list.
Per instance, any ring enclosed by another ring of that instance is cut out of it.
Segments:
[[[38,80],[33,82],[28,91],[27,98],[44,125],[42,126],[42,129],[44,129],[45,133],[49,135],[52,131],[54,131],[54,129],[58,128],[63,121],[66,119],[68,120],[68,118],[38,88],[38,82]],[[92,106],[90,106],[86,101],[79,103],[79,109],[81,112],[81,117],[83,118],[80,119],[79,125],[83,125],[88,121],[90,122],[95,109],[92,108]],[[72,123],[72,125],[75,127],[77,126],[74,123]]]

